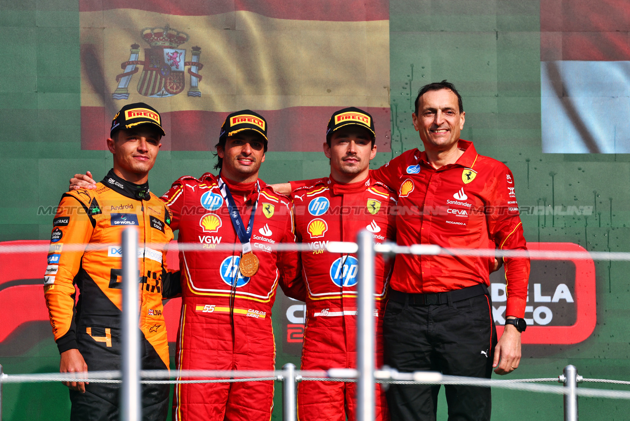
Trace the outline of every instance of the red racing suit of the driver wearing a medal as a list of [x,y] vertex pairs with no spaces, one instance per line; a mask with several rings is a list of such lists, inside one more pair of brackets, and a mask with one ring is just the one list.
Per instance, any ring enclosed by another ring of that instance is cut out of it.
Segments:
[[[233,183],[223,179],[238,205],[245,226],[251,205],[258,205],[251,234],[260,268],[251,278],[238,271],[241,243],[232,226],[218,177],[181,177],[163,196],[179,229],[180,244],[207,250],[180,250],[182,307],[178,331],[178,369],[273,370],[275,342],[272,306],[276,287],[285,294],[301,285],[297,251],[275,251],[278,243],[294,243],[290,200],[262,180]],[[233,250],[212,251],[235,243]],[[236,287],[232,282],[236,280]],[[302,289],[301,294],[304,294]],[[300,297],[298,294],[296,297]],[[269,420],[273,381],[177,384],[173,420]]]

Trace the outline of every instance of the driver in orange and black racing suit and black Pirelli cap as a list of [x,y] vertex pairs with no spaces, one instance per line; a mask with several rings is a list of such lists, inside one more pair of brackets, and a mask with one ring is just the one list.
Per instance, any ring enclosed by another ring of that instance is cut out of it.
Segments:
[[[113,169],[95,190],[62,196],[53,221],[44,278],[50,324],[61,354],[60,372],[120,369],[122,314],[121,233],[139,231],[139,297],[142,368],[168,369],[168,341],[162,315],[163,296],[181,291],[178,273],[166,272],[166,247],[173,239],[171,213],[149,192],[148,173],[155,163],[161,118],[144,103],[125,105],[113,118],[107,146]],[[86,245],[88,248],[86,248]],[[89,247],[93,245],[94,247]],[[76,287],[81,294],[75,306]],[[69,386],[72,420],[118,420],[118,384],[64,382]],[[143,385],[145,420],[164,420],[169,387]]]

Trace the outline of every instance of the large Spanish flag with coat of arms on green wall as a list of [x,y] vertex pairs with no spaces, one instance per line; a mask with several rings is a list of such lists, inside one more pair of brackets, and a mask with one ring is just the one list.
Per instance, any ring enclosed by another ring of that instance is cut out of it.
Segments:
[[389,151],[389,1],[80,0],[81,147],[146,102],[163,148],[210,151],[227,114],[268,121],[270,151],[321,151],[331,114],[372,114]]

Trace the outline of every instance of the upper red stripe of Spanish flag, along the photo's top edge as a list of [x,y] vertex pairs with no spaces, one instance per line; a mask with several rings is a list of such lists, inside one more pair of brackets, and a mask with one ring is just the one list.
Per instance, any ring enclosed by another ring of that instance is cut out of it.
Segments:
[[251,11],[278,19],[318,21],[389,20],[389,0],[79,0],[79,11],[139,9],[180,16]]

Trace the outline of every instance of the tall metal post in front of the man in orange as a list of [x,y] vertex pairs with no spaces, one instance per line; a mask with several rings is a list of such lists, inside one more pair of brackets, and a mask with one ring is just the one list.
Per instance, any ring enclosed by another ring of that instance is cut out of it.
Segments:
[[138,304],[138,231],[122,233],[122,413],[123,421],[140,421],[140,330]]

